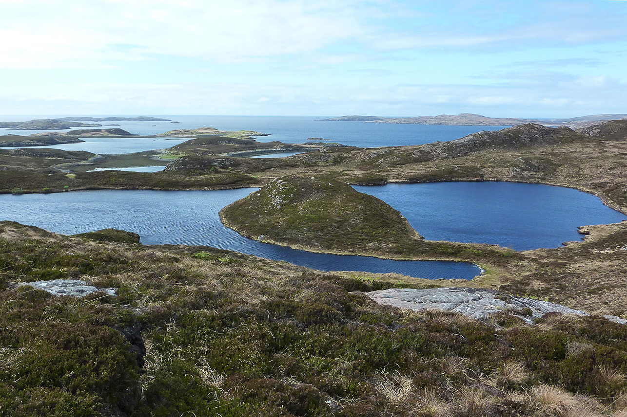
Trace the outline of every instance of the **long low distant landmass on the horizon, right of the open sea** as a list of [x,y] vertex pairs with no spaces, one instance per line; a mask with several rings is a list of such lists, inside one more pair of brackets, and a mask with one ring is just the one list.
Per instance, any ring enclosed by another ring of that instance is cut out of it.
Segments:
[[569,119],[523,119],[523,118],[494,118],[473,113],[459,115],[417,116],[417,117],[379,117],[379,116],[342,116],[324,121],[366,121],[369,123],[399,123],[408,125],[462,125],[462,126],[515,126],[524,123],[537,123],[545,126],[584,127],[601,120],[627,119],[627,115],[590,115]]

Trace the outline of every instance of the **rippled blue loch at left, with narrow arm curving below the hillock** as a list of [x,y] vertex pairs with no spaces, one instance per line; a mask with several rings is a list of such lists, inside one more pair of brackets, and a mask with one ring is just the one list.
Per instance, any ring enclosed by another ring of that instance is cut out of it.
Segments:
[[113,227],[144,244],[209,245],[319,270],[397,272],[428,279],[472,279],[480,269],[461,262],[384,260],[314,254],[246,239],[224,227],[218,212],[257,188],[219,191],[99,190],[0,195],[0,220],[76,234]]

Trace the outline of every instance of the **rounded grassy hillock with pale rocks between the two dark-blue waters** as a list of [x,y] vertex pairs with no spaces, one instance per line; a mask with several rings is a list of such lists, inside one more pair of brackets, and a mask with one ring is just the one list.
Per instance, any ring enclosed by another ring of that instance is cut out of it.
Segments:
[[282,177],[221,210],[246,237],[340,252],[406,252],[419,235],[386,203],[324,177]]

